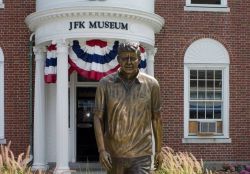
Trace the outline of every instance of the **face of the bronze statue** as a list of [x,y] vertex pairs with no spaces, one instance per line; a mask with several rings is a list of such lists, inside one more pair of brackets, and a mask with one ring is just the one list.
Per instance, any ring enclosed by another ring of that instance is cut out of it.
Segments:
[[118,62],[125,74],[134,74],[138,71],[140,58],[135,52],[121,52],[118,55]]

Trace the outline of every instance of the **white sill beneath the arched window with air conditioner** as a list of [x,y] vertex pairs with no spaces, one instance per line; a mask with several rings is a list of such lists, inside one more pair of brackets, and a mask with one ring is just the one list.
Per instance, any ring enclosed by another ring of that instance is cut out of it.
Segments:
[[183,138],[182,143],[184,144],[192,144],[192,143],[232,143],[231,138]]

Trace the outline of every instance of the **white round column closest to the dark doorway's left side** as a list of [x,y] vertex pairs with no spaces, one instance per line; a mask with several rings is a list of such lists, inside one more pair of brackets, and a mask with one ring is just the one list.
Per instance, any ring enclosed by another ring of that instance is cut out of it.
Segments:
[[55,173],[69,170],[68,132],[68,46],[57,41],[57,93],[56,93],[56,169]]

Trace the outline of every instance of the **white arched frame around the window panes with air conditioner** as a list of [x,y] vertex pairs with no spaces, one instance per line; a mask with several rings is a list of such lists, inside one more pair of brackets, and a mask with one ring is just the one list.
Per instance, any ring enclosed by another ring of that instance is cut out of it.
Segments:
[[[197,51],[198,50],[198,51]],[[210,58],[210,56],[212,58]],[[222,71],[222,132],[223,135],[189,135],[190,70]],[[183,143],[231,143],[229,137],[229,55],[214,39],[193,42],[184,58],[184,138]]]

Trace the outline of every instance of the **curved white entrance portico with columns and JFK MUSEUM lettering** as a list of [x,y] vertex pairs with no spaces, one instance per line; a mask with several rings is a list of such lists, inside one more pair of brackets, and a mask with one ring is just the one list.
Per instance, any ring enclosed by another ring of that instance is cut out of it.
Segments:
[[[55,173],[62,173],[69,170],[69,162],[76,161],[76,99],[72,95],[77,81],[68,80],[72,42],[140,42],[148,55],[147,73],[154,75],[155,33],[161,30],[164,19],[154,13],[154,0],[37,0],[36,12],[25,22],[35,33],[33,167],[42,169],[48,162],[56,162]],[[43,81],[44,48],[51,43],[57,47],[56,85]]]

